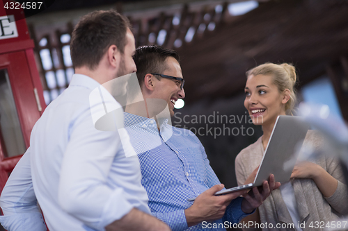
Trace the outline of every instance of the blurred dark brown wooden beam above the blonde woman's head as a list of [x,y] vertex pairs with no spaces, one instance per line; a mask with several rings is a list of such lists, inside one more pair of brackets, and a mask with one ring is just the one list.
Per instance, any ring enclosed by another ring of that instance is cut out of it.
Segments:
[[303,83],[313,79],[310,75],[325,73],[325,64],[348,53],[348,28],[343,26],[348,24],[348,3],[321,1],[316,3],[321,6],[310,11],[308,2],[262,3],[214,33],[177,49],[187,77],[186,101],[242,92],[245,71],[264,62],[294,63],[301,67]]

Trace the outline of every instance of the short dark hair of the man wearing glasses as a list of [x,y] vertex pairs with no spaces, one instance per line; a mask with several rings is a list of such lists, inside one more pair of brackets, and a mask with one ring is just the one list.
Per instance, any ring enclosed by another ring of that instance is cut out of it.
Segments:
[[180,62],[179,54],[171,49],[166,49],[161,46],[139,46],[134,55],[136,65],[136,76],[139,80],[139,85],[143,84],[146,74],[158,73],[163,74],[166,67],[166,58],[173,57],[177,62]]

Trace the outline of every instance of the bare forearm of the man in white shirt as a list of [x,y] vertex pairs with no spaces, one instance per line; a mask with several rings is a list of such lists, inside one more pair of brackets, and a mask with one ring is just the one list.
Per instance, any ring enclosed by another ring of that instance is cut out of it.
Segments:
[[106,231],[171,231],[171,228],[159,221],[159,219],[145,214],[138,209],[132,209],[128,214],[123,216],[120,220],[113,221],[110,225],[105,227]]

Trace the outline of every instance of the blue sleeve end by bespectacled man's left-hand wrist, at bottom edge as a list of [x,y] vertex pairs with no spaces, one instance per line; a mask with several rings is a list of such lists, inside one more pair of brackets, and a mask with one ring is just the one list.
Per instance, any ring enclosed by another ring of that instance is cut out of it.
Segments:
[[167,213],[152,212],[152,216],[166,223],[173,231],[181,231],[188,228],[184,210]]

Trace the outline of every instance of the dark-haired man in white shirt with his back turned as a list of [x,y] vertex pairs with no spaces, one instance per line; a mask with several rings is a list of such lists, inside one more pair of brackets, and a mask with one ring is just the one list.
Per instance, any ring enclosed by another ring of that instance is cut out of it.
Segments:
[[[117,129],[95,129],[90,114],[98,108],[90,105],[93,89],[136,71],[134,51],[129,22],[114,10],[92,12],[77,24],[70,44],[75,74],[35,123],[31,146],[1,194],[6,229],[45,230],[36,196],[51,231],[169,230],[148,214],[139,160],[125,157],[129,142],[121,144]],[[112,97],[108,103],[118,104]],[[123,123],[122,112],[115,121]]]

